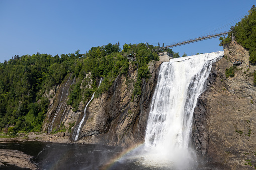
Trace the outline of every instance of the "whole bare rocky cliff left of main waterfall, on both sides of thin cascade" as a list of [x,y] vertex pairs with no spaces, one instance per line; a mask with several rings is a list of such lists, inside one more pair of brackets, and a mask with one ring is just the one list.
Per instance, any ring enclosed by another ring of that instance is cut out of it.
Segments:
[[[134,99],[132,92],[137,79],[136,68],[130,64],[127,76],[118,75],[110,89],[98,98],[95,97],[87,107],[78,142],[114,146],[131,146],[143,142],[150,101],[161,63],[149,63],[151,77],[148,80],[142,79],[141,95]],[[67,105],[69,88],[74,82],[72,75],[67,75],[65,81],[56,88],[56,93],[52,92],[54,97],[44,121],[44,131],[50,133],[56,129],[69,129],[72,139],[72,132],[81,121],[86,104],[81,102],[76,112]]]

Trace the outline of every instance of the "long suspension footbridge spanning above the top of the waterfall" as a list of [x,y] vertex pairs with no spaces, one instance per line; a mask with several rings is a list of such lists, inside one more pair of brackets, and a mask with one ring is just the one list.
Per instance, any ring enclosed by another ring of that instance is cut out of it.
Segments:
[[221,37],[221,36],[224,36],[224,35],[228,35],[228,32],[229,31],[224,31],[224,32],[221,32],[221,33],[216,33],[216,34],[211,34],[211,35],[207,35],[207,36],[203,36],[203,37],[198,37],[198,38],[194,38],[194,39],[174,43],[172,45],[168,45],[168,46],[165,46],[165,47],[160,47],[160,48],[154,49],[152,51],[159,51],[159,50],[163,50],[163,49],[166,49],[166,48],[177,47],[177,46],[182,46],[182,45],[189,44],[189,43],[195,43],[195,42],[198,42],[198,41],[203,41],[203,40],[208,40],[208,39],[212,39],[212,38],[216,38],[216,37]]

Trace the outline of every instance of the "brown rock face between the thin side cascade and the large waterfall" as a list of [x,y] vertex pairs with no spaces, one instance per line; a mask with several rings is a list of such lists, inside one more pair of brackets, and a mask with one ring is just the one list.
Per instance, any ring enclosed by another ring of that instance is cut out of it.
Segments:
[[79,138],[86,143],[118,146],[143,142],[161,63],[152,61],[149,64],[152,77],[148,81],[142,80],[141,96],[134,97],[133,101],[133,82],[137,79],[137,71],[130,66],[127,77],[119,75],[110,90],[94,98],[88,106]]

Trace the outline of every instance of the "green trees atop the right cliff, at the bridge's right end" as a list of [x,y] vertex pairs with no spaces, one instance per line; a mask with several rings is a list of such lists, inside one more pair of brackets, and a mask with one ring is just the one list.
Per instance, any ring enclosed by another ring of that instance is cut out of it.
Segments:
[[231,29],[236,41],[249,50],[250,62],[256,63],[256,9],[252,7],[249,15]]

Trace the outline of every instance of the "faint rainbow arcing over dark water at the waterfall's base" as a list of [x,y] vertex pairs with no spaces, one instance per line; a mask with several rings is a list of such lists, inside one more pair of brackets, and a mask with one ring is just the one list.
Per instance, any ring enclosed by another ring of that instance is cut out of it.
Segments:
[[108,170],[108,169],[110,169],[118,160],[120,160],[121,158],[125,157],[127,154],[131,153],[135,149],[138,149],[138,148],[142,147],[143,145],[144,145],[144,142],[140,143],[138,145],[133,145],[133,146],[131,146],[129,148],[124,149],[118,155],[116,155],[115,157],[110,159],[110,161],[108,163],[105,163],[102,167],[100,167],[100,170]]

